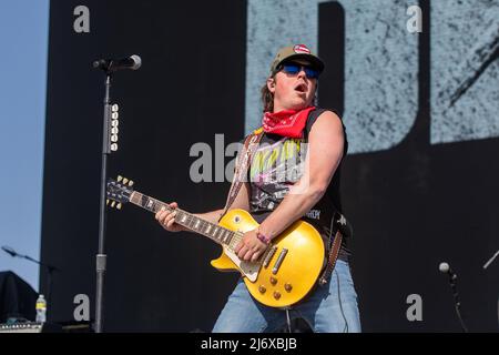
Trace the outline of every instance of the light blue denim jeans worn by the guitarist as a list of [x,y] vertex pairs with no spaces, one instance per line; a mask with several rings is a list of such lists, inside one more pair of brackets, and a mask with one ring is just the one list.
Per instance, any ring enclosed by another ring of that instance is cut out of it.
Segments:
[[[350,270],[338,260],[329,282],[292,307],[289,317],[303,318],[316,333],[360,332],[357,294]],[[228,297],[213,333],[276,332],[286,326],[286,312],[255,301],[242,280]]]

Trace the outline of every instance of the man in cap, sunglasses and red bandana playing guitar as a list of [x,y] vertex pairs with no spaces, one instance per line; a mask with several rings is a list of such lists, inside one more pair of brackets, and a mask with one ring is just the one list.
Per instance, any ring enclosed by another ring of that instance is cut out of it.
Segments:
[[[259,145],[248,163],[248,180],[230,206],[249,212],[261,223],[245,232],[235,246],[242,261],[257,261],[272,241],[298,220],[317,229],[326,250],[333,242],[334,219],[340,215],[339,165],[347,141],[340,118],[314,106],[323,70],[323,61],[304,44],[281,49],[271,65],[262,88]],[[170,232],[185,230],[175,222],[177,204],[173,202],[170,207],[156,213],[157,222]],[[221,209],[196,216],[217,223],[224,212]],[[348,256],[344,244],[327,282],[314,286],[287,315],[302,317],[314,332],[360,332]],[[213,332],[273,332],[283,328],[285,322],[283,310],[255,301],[238,282]]]

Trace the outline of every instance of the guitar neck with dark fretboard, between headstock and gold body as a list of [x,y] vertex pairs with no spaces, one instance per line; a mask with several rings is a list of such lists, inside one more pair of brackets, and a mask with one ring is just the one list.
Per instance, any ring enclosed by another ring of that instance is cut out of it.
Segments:
[[236,232],[220,226],[218,224],[211,223],[181,209],[172,209],[166,203],[144,195],[138,191],[132,193],[130,196],[130,202],[153,213],[161,211],[161,209],[165,209],[166,211],[176,211],[175,223],[179,223],[191,232],[207,236],[221,245],[226,245],[233,248],[235,246],[234,244],[238,242],[238,234]]

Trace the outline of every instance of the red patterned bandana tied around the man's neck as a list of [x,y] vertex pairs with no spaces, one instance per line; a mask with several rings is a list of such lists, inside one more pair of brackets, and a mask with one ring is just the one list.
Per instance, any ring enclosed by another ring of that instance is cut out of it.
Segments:
[[265,112],[262,125],[265,133],[273,133],[288,138],[303,138],[303,130],[307,122],[308,113],[315,110],[309,106],[301,111],[283,110],[278,112]]

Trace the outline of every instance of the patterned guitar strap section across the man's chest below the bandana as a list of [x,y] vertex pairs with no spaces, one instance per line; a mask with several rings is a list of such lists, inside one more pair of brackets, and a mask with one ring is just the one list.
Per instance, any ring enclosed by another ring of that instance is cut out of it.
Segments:
[[240,193],[241,186],[244,182],[246,182],[247,169],[249,168],[249,163],[252,161],[253,154],[258,148],[259,141],[263,136],[263,128],[255,130],[252,134],[249,134],[244,141],[243,150],[240,153],[240,158],[236,160],[236,168],[234,172],[234,179],[232,180],[231,190],[228,191],[227,202],[225,203],[224,213],[222,213],[222,217],[227,213],[228,209],[234,203],[237,194]]

